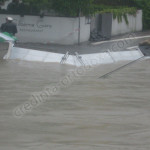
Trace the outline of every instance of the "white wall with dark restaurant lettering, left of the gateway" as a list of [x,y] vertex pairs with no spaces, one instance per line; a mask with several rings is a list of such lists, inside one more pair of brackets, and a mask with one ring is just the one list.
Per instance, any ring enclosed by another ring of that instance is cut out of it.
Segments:
[[[17,24],[17,38],[20,42],[38,42],[55,44],[78,43],[78,18],[9,15]],[[5,22],[6,15],[0,15],[0,22]],[[89,40],[90,25],[81,17],[81,42]]]

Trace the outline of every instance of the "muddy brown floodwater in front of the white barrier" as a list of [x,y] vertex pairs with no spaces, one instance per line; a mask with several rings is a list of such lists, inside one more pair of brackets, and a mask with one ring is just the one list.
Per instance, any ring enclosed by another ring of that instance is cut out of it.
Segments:
[[71,66],[0,62],[0,150],[149,150],[150,59],[101,65],[18,119],[17,106]]

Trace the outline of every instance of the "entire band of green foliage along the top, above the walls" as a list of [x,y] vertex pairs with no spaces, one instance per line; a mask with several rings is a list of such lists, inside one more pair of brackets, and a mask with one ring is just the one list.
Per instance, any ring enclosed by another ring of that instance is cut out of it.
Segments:
[[[6,0],[0,0],[2,4]],[[112,13],[121,22],[128,24],[127,14],[135,15],[143,10],[144,29],[150,29],[150,0],[23,0],[24,4],[11,5],[0,13],[39,15],[41,10],[54,10],[60,16],[77,17],[95,13]],[[132,6],[132,7],[131,7]],[[137,9],[136,9],[137,8]]]

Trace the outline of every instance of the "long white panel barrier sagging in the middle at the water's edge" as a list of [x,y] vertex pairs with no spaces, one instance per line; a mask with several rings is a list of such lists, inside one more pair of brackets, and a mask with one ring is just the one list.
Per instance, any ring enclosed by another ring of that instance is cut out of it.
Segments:
[[[9,54],[7,54],[7,57],[5,58],[24,61],[38,61],[43,63],[61,63],[64,59],[64,56],[64,54],[12,47],[11,51],[9,51]],[[121,52],[104,52],[84,55],[78,55],[76,53],[75,55],[68,55],[64,63],[74,66],[88,66],[94,64],[100,65],[114,63],[118,61],[136,60],[142,56],[143,54],[137,48],[132,51],[130,50]]]

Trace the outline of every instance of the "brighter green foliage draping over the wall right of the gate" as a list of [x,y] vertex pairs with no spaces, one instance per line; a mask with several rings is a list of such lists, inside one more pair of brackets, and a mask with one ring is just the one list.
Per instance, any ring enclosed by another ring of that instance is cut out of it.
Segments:
[[[134,6],[137,9],[143,10],[143,26],[144,29],[150,29],[150,0],[95,0],[96,4],[99,4],[100,7],[104,6],[104,9],[99,9],[99,11],[104,12],[112,12],[114,14],[114,18],[117,17],[118,21],[122,21],[122,17],[127,21],[127,13],[134,15],[135,9],[132,9],[130,6]],[[122,8],[118,9],[116,6],[129,6],[127,12]],[[99,6],[97,6],[98,8]],[[100,8],[99,7],[99,8]],[[106,8],[108,7],[108,8]],[[109,9],[115,9],[114,11]]]

